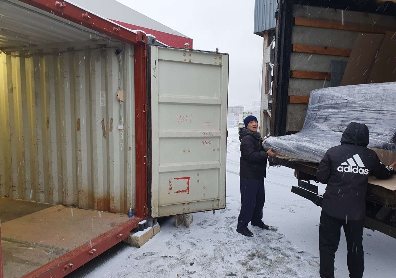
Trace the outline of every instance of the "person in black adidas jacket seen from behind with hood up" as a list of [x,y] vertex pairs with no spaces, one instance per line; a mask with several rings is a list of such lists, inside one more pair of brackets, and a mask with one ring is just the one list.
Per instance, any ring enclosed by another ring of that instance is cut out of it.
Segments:
[[366,216],[366,189],[370,175],[390,178],[396,163],[385,166],[367,148],[369,130],[361,123],[350,123],[341,145],[330,148],[320,161],[316,176],[327,183],[323,195],[319,227],[320,277],[334,278],[334,257],[344,228],[350,278],[361,278],[364,271],[363,224]]

